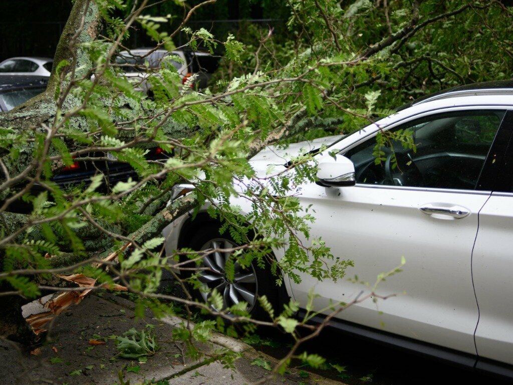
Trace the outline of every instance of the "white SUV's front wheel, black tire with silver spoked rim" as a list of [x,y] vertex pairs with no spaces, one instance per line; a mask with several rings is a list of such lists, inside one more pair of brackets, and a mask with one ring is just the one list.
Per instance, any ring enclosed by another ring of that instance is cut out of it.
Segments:
[[[238,246],[236,242],[225,233],[219,233],[219,226],[209,224],[198,229],[192,236],[189,247],[196,251],[206,250],[209,248],[232,248]],[[210,291],[214,287],[223,296],[223,310],[226,307],[242,300],[248,303],[248,311],[252,318],[259,320],[270,320],[268,313],[262,309],[258,297],[265,295],[274,309],[275,314],[279,314],[283,299],[287,294],[282,284],[278,286],[275,283],[275,277],[268,268],[261,268],[257,264],[252,263],[248,268],[242,268],[235,262],[235,279],[230,282],[224,274],[224,263],[231,253],[210,253],[203,258],[200,267],[208,269],[200,272],[199,279],[210,290],[208,292],[202,290],[193,290],[193,294],[200,302],[206,302]],[[190,277],[192,273],[185,273],[184,276]],[[220,309],[214,309],[219,311]]]

